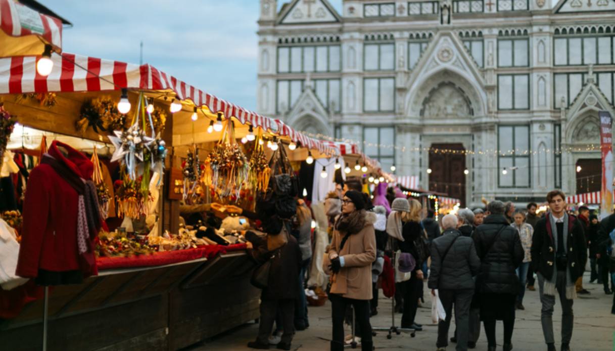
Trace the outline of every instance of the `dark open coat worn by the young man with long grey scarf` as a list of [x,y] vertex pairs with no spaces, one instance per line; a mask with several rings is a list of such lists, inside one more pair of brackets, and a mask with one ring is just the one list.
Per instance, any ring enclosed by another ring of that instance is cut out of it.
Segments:
[[[532,238],[532,264],[533,272],[539,272],[546,280],[551,280],[554,273],[555,248],[554,235],[550,225],[550,216],[541,218],[534,228]],[[570,278],[576,281],[583,274],[585,263],[587,262],[587,241],[583,233],[583,225],[576,217],[568,215],[568,235],[566,255],[568,256],[568,267],[570,268]]]

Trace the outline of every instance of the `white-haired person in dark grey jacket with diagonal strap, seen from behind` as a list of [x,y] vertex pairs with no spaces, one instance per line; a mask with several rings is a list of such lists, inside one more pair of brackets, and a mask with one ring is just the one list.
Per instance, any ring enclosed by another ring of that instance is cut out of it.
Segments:
[[455,305],[457,325],[457,351],[467,350],[469,334],[469,311],[474,296],[474,279],[480,268],[480,259],[471,238],[462,236],[456,229],[458,220],[454,214],[442,219],[444,232],[431,243],[431,274],[429,288],[438,296],[446,312],[446,320],[438,323],[438,351],[448,345],[448,328]]

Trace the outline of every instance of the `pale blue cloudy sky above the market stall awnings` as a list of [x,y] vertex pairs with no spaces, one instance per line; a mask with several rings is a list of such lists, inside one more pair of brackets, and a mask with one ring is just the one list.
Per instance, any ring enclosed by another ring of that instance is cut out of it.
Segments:
[[139,63],[143,41],[144,63],[256,108],[258,0],[39,1],[73,23],[63,33],[66,52]]

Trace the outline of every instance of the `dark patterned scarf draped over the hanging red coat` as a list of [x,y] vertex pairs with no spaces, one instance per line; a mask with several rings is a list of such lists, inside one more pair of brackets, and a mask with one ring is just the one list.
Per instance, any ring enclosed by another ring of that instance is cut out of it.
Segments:
[[98,207],[96,186],[92,180],[85,180],[75,174],[69,167],[48,153],[44,154],[41,164],[49,164],[79,195],[77,212],[77,247],[79,254],[88,250],[87,239],[93,239],[100,230],[101,216]]

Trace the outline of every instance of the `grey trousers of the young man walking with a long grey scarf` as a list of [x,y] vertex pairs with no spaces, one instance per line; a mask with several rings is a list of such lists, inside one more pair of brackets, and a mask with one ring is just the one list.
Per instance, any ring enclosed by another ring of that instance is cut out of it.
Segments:
[[[555,289],[557,289],[557,293],[560,296],[561,304],[561,343],[569,344],[573,336],[573,301],[566,299],[566,271],[560,270],[554,272],[554,274],[557,274]],[[542,276],[541,273],[538,273],[538,287],[540,291],[540,302],[542,303],[542,334],[544,334],[544,341],[547,344],[554,344],[553,308],[555,306],[555,296],[544,295],[542,293],[544,289],[544,276]]]

